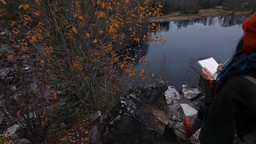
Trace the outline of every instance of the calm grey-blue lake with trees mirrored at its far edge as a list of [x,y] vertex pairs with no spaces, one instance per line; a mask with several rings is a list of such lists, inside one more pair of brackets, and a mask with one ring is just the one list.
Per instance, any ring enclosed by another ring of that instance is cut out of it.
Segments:
[[213,57],[224,63],[234,53],[243,36],[242,22],[249,17],[219,16],[160,23],[162,31],[157,33],[166,42],[149,45],[145,57],[150,63],[148,74],[163,76],[169,86],[178,90],[183,84],[196,86],[196,71],[201,69],[196,60]]

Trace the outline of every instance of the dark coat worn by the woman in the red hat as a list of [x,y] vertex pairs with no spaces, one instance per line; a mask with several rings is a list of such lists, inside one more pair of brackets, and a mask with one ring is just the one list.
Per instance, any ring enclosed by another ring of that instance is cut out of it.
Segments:
[[[256,78],[256,66],[247,68],[243,75]],[[206,113],[199,140],[201,144],[232,144],[234,116],[238,137],[242,138],[256,126],[256,85],[233,76],[213,100],[213,86],[206,86]]]

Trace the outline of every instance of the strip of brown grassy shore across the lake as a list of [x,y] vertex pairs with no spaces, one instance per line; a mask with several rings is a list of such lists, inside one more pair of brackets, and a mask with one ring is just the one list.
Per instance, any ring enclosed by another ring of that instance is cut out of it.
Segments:
[[207,17],[216,17],[216,16],[227,16],[227,15],[250,15],[252,10],[248,11],[232,11],[232,10],[222,10],[222,9],[206,9],[199,10],[198,14],[186,14],[180,15],[180,12],[172,12],[169,15],[160,16],[160,18],[149,18],[148,22],[158,23],[158,22],[171,22],[178,20],[190,20],[195,18],[207,18]]

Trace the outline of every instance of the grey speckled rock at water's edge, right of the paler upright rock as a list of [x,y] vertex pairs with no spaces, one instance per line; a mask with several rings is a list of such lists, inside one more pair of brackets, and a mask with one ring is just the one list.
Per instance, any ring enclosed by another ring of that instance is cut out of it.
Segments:
[[193,97],[196,97],[198,94],[200,94],[200,88],[198,87],[182,85],[181,88],[182,89],[180,93],[184,98],[191,99]]

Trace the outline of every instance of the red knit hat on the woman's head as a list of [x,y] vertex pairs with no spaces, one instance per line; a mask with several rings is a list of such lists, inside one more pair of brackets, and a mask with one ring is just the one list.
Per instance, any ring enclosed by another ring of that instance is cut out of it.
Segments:
[[244,21],[243,29],[245,53],[256,52],[256,13]]

